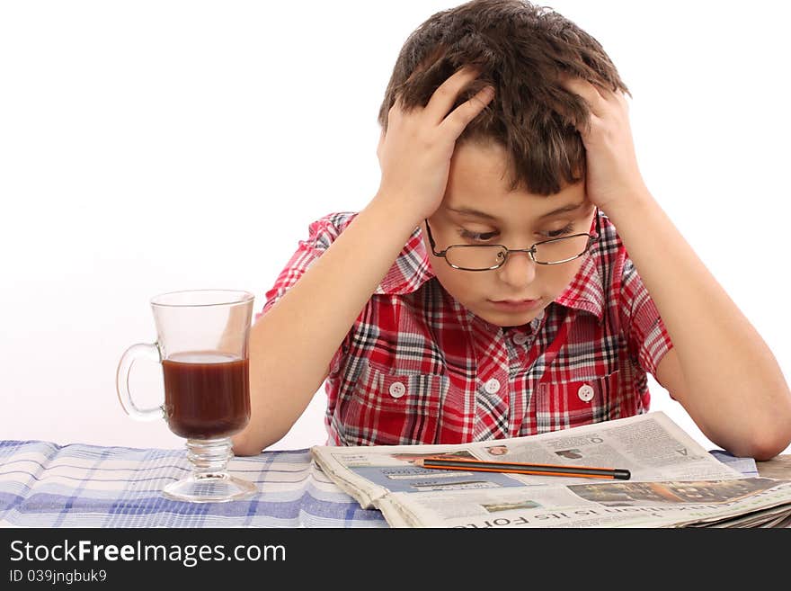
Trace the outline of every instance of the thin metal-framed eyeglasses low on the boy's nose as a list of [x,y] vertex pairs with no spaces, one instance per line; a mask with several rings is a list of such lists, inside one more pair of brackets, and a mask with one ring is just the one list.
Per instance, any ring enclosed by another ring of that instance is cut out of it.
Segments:
[[[434,256],[441,256],[454,269],[459,271],[493,271],[508,260],[511,253],[527,253],[536,264],[564,264],[585,255],[591,246],[599,241],[599,233],[574,234],[538,242],[529,248],[508,248],[501,244],[453,245],[438,253],[431,226],[426,219],[429,243]],[[596,228],[599,229],[599,208],[596,209]]]

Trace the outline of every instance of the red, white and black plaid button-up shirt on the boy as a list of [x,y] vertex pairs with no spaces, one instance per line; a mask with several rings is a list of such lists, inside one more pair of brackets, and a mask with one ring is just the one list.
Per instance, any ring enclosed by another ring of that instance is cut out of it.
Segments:
[[[355,216],[310,225],[256,319]],[[672,343],[615,226],[599,216],[600,240],[579,273],[523,327],[497,327],[454,300],[415,229],[333,357],[327,443],[467,443],[646,412],[646,372],[656,375]]]

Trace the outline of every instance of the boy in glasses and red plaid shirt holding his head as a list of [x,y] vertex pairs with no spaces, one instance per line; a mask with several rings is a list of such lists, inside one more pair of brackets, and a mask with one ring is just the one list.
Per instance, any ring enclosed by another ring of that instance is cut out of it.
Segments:
[[234,451],[324,381],[329,443],[461,443],[645,412],[647,372],[724,449],[785,449],[778,363],[645,187],[624,92],[596,40],[521,0],[414,31],[378,193],[311,225],[251,329]]

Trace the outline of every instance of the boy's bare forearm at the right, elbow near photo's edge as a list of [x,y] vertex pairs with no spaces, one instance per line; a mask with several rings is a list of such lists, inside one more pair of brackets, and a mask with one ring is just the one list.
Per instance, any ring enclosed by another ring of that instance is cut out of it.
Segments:
[[787,432],[791,404],[774,355],[652,195],[607,213],[671,336],[684,406],[701,430],[732,450]]

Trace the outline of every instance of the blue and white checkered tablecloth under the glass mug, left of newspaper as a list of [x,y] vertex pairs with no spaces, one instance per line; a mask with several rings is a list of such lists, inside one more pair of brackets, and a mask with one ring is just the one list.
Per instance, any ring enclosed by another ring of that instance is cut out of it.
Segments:
[[183,449],[0,441],[0,527],[387,527],[307,449],[234,458],[228,468],[259,494],[227,503],[163,497],[190,471]]

